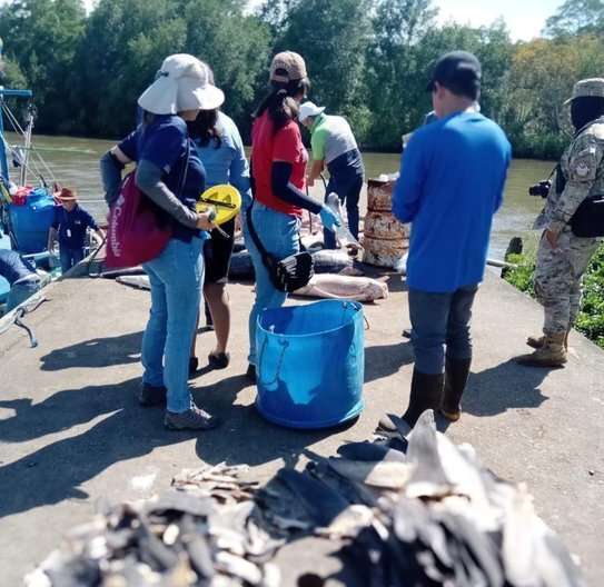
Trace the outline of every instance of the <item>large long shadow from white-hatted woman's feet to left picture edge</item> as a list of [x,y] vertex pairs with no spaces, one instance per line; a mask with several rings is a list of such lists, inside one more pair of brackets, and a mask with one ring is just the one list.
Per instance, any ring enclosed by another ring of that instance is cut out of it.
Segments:
[[[138,406],[135,390],[139,384],[135,378],[112,386],[60,391],[41,407],[18,404],[27,400],[3,402],[4,407],[16,408],[17,415],[2,422],[2,440],[26,440],[108,416],[81,434],[50,442],[0,467],[0,517],[65,499],[87,498],[80,486],[116,462],[200,435],[165,430],[162,409]],[[14,430],[30,427],[31,432]],[[206,437],[212,432],[201,434]]]

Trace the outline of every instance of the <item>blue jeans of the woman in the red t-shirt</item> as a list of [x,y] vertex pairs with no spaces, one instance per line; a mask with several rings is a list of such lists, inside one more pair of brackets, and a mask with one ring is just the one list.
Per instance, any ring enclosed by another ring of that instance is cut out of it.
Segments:
[[[299,252],[299,219],[297,217],[277,212],[263,203],[255,202],[251,208],[251,222],[264,248],[275,257],[285,259],[289,255]],[[258,315],[266,308],[283,306],[287,299],[287,294],[273,286],[260,252],[251,237],[248,236],[246,242],[256,272],[256,300],[249,314],[248,356],[249,362],[256,365],[256,325]]]

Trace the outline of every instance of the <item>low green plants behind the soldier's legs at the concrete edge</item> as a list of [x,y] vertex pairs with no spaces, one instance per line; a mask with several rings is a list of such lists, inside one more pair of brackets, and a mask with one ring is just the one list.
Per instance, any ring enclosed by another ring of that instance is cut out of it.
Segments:
[[[504,275],[506,281],[534,297],[534,255],[511,255],[507,260],[516,267],[506,270]],[[604,348],[604,243],[600,246],[585,272],[581,312],[575,328]]]

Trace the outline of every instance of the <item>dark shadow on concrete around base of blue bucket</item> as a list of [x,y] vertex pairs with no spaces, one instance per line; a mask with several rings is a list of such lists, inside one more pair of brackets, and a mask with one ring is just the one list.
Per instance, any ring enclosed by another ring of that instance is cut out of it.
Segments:
[[225,417],[220,434],[199,437],[196,452],[201,460],[212,465],[226,461],[254,467],[280,458],[286,466],[294,467],[308,447],[350,428],[357,421],[353,419],[321,430],[276,426],[265,420],[254,405],[237,404],[239,391],[250,385],[245,375],[240,375],[194,390],[199,406]]

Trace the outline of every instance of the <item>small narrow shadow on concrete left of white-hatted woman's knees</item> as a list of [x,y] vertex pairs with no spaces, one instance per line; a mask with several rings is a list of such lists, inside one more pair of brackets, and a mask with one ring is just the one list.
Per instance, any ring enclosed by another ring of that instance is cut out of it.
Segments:
[[137,362],[140,360],[141,344],[142,332],[85,340],[44,355],[40,359],[41,369],[59,371],[72,367],[98,368]]

